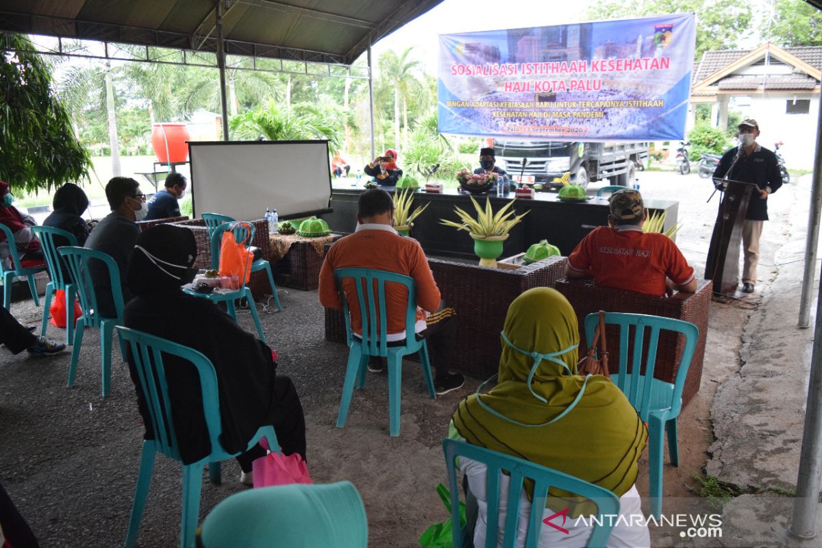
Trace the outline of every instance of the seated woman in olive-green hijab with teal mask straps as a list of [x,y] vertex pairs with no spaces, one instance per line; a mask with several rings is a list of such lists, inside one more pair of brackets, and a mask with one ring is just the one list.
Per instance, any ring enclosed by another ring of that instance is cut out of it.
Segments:
[[[630,527],[630,516],[642,515],[634,482],[648,431],[610,380],[600,375],[575,375],[579,342],[574,309],[560,292],[534,288],[521,294],[506,316],[498,384],[488,394],[479,394],[481,385],[477,394],[459,403],[451,435],[611,490],[620,497],[621,515],[626,519],[615,519],[607,546],[650,546],[644,523]],[[534,358],[533,352],[538,352],[538,357]],[[459,461],[468,478],[469,502],[476,497],[478,506],[473,546],[485,546],[487,469],[468,458],[460,457]],[[502,477],[501,486],[507,487],[507,477]],[[567,494],[550,490],[544,518],[569,508],[567,499],[558,498],[562,495]],[[524,546],[532,497],[533,483],[526,483],[520,496],[516,546]],[[502,504],[505,500],[503,497]],[[496,517],[500,535],[505,530],[502,504]],[[593,527],[582,520],[577,523],[575,518],[591,512],[571,503],[562,526],[568,533],[543,525],[539,546],[585,546]]]

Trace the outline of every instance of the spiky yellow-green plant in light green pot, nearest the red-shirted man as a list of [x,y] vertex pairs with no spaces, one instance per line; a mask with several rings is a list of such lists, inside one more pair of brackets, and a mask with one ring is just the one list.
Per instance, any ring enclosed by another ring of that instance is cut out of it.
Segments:
[[491,200],[485,199],[485,209],[483,210],[477,200],[473,199],[473,196],[469,196],[469,198],[474,209],[477,210],[477,219],[473,219],[471,215],[455,207],[454,210],[462,222],[456,223],[448,219],[440,219],[441,223],[457,230],[467,231],[473,238],[473,252],[480,258],[479,265],[495,269],[496,259],[502,255],[502,242],[506,241],[510,229],[516,223],[519,223],[528,214],[528,211],[521,215],[515,214],[514,211],[508,211],[510,206],[514,204],[514,200],[510,200],[495,214],[491,209]]

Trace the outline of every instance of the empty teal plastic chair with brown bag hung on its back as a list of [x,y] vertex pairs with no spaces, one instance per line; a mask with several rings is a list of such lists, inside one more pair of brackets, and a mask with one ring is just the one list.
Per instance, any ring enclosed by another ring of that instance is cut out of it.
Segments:
[[[598,322],[598,312],[585,316],[586,340],[593,340],[593,331]],[[663,510],[665,434],[667,433],[671,464],[679,466],[677,417],[682,409],[682,388],[688,375],[690,359],[694,356],[696,341],[700,337],[700,329],[687,321],[622,312],[606,312],[605,325],[606,328],[607,325],[619,327],[619,372],[612,373],[611,380],[640,413],[640,418],[648,423],[651,513],[655,518],[659,518]],[[663,329],[685,336],[685,347],[682,350],[677,377],[673,384],[653,378],[659,332]],[[647,337],[646,331],[649,332]],[[629,342],[630,338],[632,338],[632,343]],[[633,351],[630,356],[629,348]],[[643,363],[644,348],[647,348],[647,352],[645,352],[646,359]],[[628,372],[629,363],[630,373]],[[641,371],[644,371],[644,375]]]

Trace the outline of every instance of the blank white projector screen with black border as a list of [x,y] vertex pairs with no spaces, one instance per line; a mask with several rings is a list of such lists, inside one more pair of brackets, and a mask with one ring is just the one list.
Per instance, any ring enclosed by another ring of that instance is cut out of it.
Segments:
[[331,175],[327,140],[189,141],[192,210],[262,219],[329,211]]

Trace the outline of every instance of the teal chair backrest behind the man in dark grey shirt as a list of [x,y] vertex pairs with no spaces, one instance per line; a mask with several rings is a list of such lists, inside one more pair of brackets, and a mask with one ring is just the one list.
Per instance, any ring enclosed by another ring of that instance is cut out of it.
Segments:
[[122,320],[122,287],[120,285],[120,269],[117,262],[107,253],[89,249],[87,247],[62,246],[58,253],[68,265],[69,275],[77,287],[77,296],[80,297],[80,306],[83,311],[85,325],[99,327],[102,320],[107,320],[99,313],[98,295],[95,290],[94,279],[91,277],[89,266],[95,263],[96,267],[104,266],[109,272],[111,282],[112,301],[116,317]]

